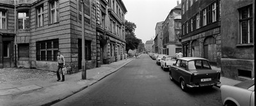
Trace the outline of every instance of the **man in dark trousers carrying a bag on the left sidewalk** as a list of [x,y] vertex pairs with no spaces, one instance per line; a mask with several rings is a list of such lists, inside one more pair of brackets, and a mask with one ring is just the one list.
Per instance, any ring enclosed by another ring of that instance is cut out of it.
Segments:
[[63,66],[65,66],[65,59],[64,59],[64,56],[60,55],[60,51],[58,51],[58,70],[57,70],[57,78],[58,78],[58,80],[57,81],[60,81],[60,72],[59,72],[59,70],[61,70],[61,74],[62,74],[61,82],[63,82],[65,80],[65,76],[64,76],[64,74],[62,72]]

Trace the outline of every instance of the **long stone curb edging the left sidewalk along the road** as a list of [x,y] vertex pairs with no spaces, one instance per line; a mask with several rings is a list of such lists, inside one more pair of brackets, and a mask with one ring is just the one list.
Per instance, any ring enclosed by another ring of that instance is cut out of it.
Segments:
[[[134,61],[134,59],[132,59],[131,61]],[[120,67],[118,67],[118,68],[115,68],[115,71],[113,71],[113,72],[111,72],[111,73],[108,73],[107,75],[104,75],[104,77],[102,77],[101,79],[97,80],[96,82],[94,82],[94,83],[92,83],[92,84],[90,84],[90,85],[88,85],[88,86],[84,86],[84,87],[82,87],[81,89],[79,89],[79,90],[77,90],[77,91],[74,91],[71,95],[63,96],[63,98],[60,98],[60,99],[58,99],[58,100],[53,100],[52,102],[49,102],[49,103],[45,103],[45,104],[43,104],[42,106],[50,106],[50,105],[53,105],[54,103],[58,103],[58,102],[60,102],[61,100],[64,100],[65,98],[68,98],[68,97],[70,97],[70,96],[72,96],[72,95],[78,93],[79,91],[82,91],[83,89],[86,89],[87,87],[92,86],[93,84],[99,82],[100,80],[102,80],[102,79],[108,77],[108,76],[111,75],[112,73],[117,72],[120,68],[124,67],[126,64],[131,63],[131,61],[128,61],[128,62],[125,63],[124,65],[122,65],[122,66],[120,66]]]

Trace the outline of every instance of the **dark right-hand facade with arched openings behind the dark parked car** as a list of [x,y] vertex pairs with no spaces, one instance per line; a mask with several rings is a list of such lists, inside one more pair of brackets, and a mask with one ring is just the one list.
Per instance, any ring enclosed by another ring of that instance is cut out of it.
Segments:
[[182,0],[182,52],[221,64],[220,0]]

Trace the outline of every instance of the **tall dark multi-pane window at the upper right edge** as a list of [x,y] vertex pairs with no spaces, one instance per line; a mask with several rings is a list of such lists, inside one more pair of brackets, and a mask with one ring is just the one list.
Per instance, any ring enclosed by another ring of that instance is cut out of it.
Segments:
[[240,43],[253,43],[252,6],[240,10]]

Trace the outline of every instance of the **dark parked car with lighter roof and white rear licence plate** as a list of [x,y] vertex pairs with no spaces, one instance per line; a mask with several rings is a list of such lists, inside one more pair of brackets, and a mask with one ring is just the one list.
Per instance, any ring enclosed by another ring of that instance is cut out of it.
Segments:
[[220,72],[212,70],[207,59],[201,57],[181,57],[170,66],[170,79],[180,83],[182,91],[189,87],[220,84]]

